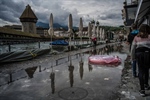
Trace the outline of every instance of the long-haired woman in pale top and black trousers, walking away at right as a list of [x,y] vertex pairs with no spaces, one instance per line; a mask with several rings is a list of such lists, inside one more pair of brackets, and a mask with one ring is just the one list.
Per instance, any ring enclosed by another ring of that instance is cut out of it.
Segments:
[[150,68],[150,27],[142,24],[139,33],[134,37],[131,46],[131,59],[138,64],[140,95],[146,96],[145,90],[150,89],[148,84]]

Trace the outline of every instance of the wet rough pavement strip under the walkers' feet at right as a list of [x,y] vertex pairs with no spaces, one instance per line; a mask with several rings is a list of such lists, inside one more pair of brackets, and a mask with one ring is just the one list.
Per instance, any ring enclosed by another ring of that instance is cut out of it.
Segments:
[[[139,80],[138,77],[134,78],[132,76],[131,58],[129,53],[129,46],[123,43],[124,51],[127,53],[128,57],[125,60],[125,65],[122,70],[121,85],[119,93],[119,100],[150,100],[150,90],[146,91],[147,96],[142,97],[139,94]],[[150,82],[149,82],[150,83]]]

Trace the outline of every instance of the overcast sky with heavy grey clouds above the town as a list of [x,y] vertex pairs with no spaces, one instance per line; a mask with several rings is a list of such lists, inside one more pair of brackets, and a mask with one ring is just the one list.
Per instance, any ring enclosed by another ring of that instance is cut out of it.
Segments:
[[123,24],[123,0],[0,0],[0,26],[21,24],[19,17],[28,4],[38,21],[44,23],[49,23],[53,13],[54,23],[61,25],[68,24],[69,14],[72,14],[73,26],[79,26],[80,17],[84,26],[93,19],[100,25]]

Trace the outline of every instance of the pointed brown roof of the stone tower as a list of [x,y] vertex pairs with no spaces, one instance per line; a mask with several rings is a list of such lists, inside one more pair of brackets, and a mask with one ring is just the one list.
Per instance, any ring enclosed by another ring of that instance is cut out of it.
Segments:
[[37,20],[38,18],[34,14],[33,10],[30,7],[30,5],[27,5],[26,9],[23,11],[22,15],[20,16],[20,20],[21,19],[34,19],[34,20]]

